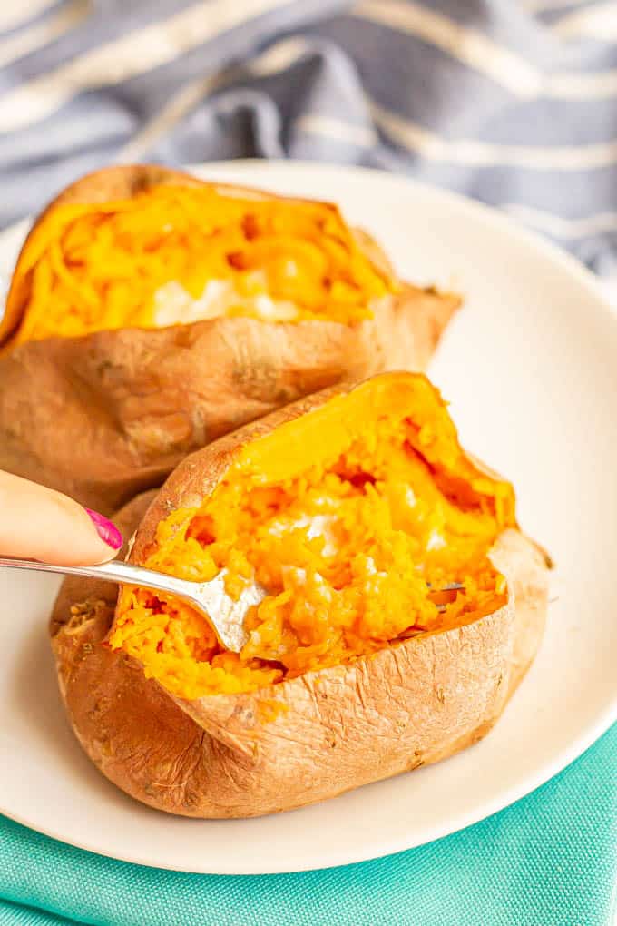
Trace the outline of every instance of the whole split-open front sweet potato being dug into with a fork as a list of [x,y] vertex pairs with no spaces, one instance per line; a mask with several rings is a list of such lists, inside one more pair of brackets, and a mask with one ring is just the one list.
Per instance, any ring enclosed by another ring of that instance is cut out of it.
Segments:
[[[67,582],[52,620],[81,744],[120,788],[191,817],[300,807],[484,736],[533,660],[548,564],[512,486],[466,456],[422,375],[382,374],[280,409],[187,457],[132,562],[228,568],[269,594],[225,652],[204,616]],[[463,590],[438,589],[459,582]]]

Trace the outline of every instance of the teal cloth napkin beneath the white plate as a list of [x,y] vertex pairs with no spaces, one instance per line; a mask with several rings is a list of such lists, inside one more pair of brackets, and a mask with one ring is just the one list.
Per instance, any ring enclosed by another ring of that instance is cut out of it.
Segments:
[[147,869],[0,818],[0,923],[19,926],[608,926],[616,887],[617,725],[493,817],[338,869],[260,877]]

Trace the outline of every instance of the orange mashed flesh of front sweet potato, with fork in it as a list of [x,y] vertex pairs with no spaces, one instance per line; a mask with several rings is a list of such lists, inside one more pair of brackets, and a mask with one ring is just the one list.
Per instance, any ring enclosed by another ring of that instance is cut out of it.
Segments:
[[[191,607],[134,588],[109,644],[187,699],[352,662],[502,607],[487,554],[513,526],[512,487],[463,455],[437,390],[379,376],[242,445],[200,506],[158,524],[146,566],[265,585],[239,656]],[[439,612],[429,586],[447,582],[464,591]]]

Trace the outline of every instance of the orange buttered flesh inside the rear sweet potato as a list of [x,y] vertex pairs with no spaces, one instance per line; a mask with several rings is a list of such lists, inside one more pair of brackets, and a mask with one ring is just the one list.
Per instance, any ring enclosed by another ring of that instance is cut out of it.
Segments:
[[335,206],[173,184],[56,206],[21,273],[14,344],[234,315],[350,324],[393,291]]

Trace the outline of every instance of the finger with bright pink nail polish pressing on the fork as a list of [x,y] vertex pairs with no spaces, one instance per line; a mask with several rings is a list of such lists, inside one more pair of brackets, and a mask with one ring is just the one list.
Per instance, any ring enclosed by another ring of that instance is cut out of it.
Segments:
[[0,556],[90,566],[113,559],[121,545],[122,534],[103,515],[0,471]]

